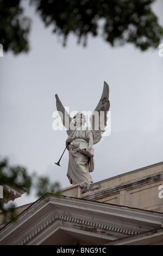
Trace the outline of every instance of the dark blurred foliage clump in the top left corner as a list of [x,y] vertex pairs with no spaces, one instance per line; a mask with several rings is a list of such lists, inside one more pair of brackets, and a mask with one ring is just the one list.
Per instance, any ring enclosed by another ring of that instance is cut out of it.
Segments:
[[29,50],[30,20],[23,16],[20,0],[0,0],[0,43],[15,54]]

